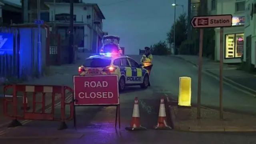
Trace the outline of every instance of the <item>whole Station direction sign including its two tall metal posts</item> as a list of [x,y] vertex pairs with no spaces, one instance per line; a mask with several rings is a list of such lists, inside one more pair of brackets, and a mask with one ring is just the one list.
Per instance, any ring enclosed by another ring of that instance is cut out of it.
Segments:
[[194,16],[191,20],[193,28],[200,28],[199,61],[198,61],[198,95],[197,118],[200,118],[201,82],[202,82],[202,49],[203,28],[220,28],[220,119],[223,119],[223,28],[232,26],[232,15]]

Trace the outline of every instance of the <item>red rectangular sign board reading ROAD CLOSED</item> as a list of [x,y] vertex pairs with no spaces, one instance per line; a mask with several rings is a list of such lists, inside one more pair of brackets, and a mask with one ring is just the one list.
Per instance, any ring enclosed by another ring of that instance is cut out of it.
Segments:
[[75,105],[118,105],[118,76],[73,76]]

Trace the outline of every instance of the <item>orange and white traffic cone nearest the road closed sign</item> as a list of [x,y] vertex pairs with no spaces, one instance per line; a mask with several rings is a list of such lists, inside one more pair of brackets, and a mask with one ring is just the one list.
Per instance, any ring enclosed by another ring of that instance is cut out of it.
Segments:
[[146,128],[140,125],[140,111],[139,111],[139,101],[135,97],[133,112],[132,112],[132,121],[130,127],[126,127],[126,130],[146,130]]

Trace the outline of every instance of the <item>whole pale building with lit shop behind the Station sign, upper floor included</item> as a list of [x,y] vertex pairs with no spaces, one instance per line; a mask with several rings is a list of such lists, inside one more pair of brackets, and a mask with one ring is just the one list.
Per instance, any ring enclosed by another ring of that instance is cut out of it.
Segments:
[[[223,31],[224,63],[240,63],[244,52],[246,0],[208,0],[211,15],[232,14],[232,27]],[[215,28],[215,60],[220,60],[220,28]]]

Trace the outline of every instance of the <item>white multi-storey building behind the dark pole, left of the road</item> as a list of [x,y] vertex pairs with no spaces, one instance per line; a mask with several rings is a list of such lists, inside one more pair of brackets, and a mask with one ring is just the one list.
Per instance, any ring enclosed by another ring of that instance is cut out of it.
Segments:
[[[70,33],[70,4],[69,3],[46,3],[49,6],[49,24],[61,35],[63,42]],[[78,49],[98,52],[103,31],[102,20],[105,19],[97,4],[74,4],[74,45]]]

